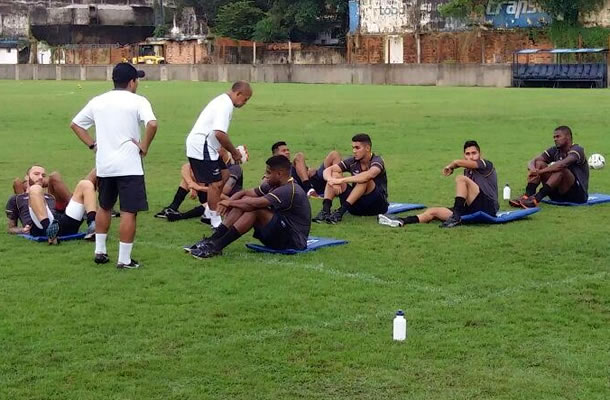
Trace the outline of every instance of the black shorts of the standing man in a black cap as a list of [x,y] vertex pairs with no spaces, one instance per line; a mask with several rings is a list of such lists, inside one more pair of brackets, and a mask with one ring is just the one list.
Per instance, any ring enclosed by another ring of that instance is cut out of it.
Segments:
[[121,211],[135,214],[138,211],[148,210],[144,175],[98,177],[97,179],[100,207],[104,210],[112,210],[117,197]]

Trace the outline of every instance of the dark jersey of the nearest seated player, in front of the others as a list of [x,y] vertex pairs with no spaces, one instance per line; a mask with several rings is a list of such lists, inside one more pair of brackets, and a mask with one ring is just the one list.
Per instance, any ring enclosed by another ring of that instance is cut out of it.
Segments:
[[271,202],[273,211],[286,221],[291,231],[290,243],[294,248],[306,248],[311,229],[311,206],[307,195],[294,179],[275,188],[263,182],[256,189],[256,194],[265,196]]

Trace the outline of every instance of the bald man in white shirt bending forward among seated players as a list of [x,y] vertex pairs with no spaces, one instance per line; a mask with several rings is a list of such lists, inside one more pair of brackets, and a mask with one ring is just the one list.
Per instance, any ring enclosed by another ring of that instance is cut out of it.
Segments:
[[241,162],[241,153],[231,142],[228,132],[233,110],[243,107],[250,97],[250,84],[244,81],[235,82],[230,91],[208,103],[186,138],[186,156],[195,179],[208,185],[208,206],[213,228],[217,228],[222,222],[216,207],[220,201],[223,181],[226,180],[223,179],[223,174],[227,175],[227,165],[218,152],[222,147],[231,153],[235,163]]

